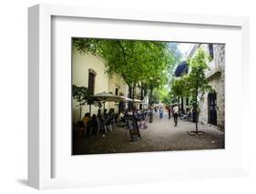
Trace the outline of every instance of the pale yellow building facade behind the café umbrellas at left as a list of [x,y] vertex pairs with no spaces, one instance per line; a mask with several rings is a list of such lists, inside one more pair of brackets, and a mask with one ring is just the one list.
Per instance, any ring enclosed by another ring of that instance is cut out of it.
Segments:
[[[106,73],[105,61],[102,57],[81,54],[75,46],[73,46],[72,52],[73,85],[87,87],[93,94],[105,91],[113,95],[128,97],[128,85],[122,77],[109,77],[108,73]],[[73,99],[72,103],[73,122],[77,122],[81,119],[79,106],[75,99]],[[115,113],[118,112],[119,108],[125,108],[125,106],[127,105],[117,102],[106,102],[105,104],[106,109],[112,109]],[[102,108],[91,106],[91,114],[97,114],[98,110]],[[89,106],[86,105],[82,109],[82,117],[87,112],[89,112]]]

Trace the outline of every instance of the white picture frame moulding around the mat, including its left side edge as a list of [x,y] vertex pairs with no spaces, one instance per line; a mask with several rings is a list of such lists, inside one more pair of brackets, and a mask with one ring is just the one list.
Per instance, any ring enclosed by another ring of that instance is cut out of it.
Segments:
[[[248,97],[249,91],[246,83],[249,80],[246,72],[249,66],[249,19],[246,17],[220,16],[220,15],[185,15],[172,13],[150,13],[147,11],[135,10],[111,10],[100,9],[97,7],[77,7],[67,5],[35,5],[28,9],[28,73],[29,73],[29,94],[28,94],[28,183],[36,189],[54,189],[83,187],[89,185],[105,184],[125,184],[129,182],[150,182],[171,179],[195,179],[195,178],[220,178],[230,176],[246,175],[247,172],[247,149],[244,143],[246,139],[242,138],[238,144],[241,146],[241,152],[237,153],[241,162],[235,167],[228,168],[198,168],[183,170],[180,166],[177,170],[161,171],[158,168],[146,173],[139,172],[136,178],[131,176],[121,178],[121,173],[113,174],[111,179],[106,176],[105,179],[81,179],[81,178],[54,178],[53,179],[53,158],[56,152],[53,151],[54,139],[52,138],[52,80],[55,75],[52,72],[52,18],[73,17],[73,18],[91,18],[129,21],[135,23],[154,23],[154,24],[181,24],[184,26],[230,26],[241,30],[241,96]],[[247,70],[245,70],[247,69]],[[241,99],[242,99],[241,97]],[[244,126],[244,117],[242,117],[242,126]],[[241,134],[246,137],[245,128],[242,128]],[[155,155],[155,158],[165,158],[169,152],[164,155]],[[195,152],[190,152],[192,156]],[[136,154],[140,157],[139,154]],[[100,157],[100,156],[99,156]],[[92,158],[96,160],[97,158]],[[142,156],[147,158],[148,156]],[[86,158],[84,158],[86,159]],[[118,157],[117,157],[118,159]],[[108,160],[108,159],[107,159]],[[85,162],[87,162],[85,160]],[[148,161],[153,163],[152,161]],[[68,167],[67,167],[68,168]],[[144,170],[147,170],[145,168]],[[148,168],[149,170],[149,168]],[[100,172],[97,172],[100,175]],[[111,175],[110,175],[111,176]],[[116,177],[115,177],[116,176]],[[144,178],[141,180],[141,178]]]

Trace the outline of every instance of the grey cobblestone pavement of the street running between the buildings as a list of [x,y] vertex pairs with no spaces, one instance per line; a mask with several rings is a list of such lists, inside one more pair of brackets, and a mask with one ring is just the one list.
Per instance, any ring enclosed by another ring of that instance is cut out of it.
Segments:
[[130,141],[128,130],[115,126],[107,134],[100,133],[98,138],[82,138],[82,132],[74,135],[73,154],[130,153],[146,151],[172,151],[193,149],[224,148],[224,133],[199,124],[203,136],[190,136],[188,131],[195,130],[195,123],[180,120],[174,127],[173,117],[165,114],[163,118],[154,116],[147,129],[140,129],[141,140]]

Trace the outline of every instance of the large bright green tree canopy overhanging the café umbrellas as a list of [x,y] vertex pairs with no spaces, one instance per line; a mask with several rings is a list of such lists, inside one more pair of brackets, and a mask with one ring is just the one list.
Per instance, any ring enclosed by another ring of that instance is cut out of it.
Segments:
[[123,77],[129,87],[141,82],[148,85],[149,77],[159,77],[160,85],[164,85],[168,81],[167,69],[174,65],[174,56],[166,42],[95,38],[73,41],[81,54],[103,57],[108,74]]

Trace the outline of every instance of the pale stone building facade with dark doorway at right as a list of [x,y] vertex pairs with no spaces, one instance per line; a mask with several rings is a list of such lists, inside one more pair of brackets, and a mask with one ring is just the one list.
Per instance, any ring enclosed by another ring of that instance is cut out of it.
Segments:
[[[206,70],[206,79],[212,87],[212,92],[207,93],[199,102],[200,117],[199,122],[210,125],[212,128],[218,128],[221,131],[225,130],[225,45],[217,44],[195,44],[190,47],[189,52],[185,58],[191,58],[196,51],[202,48],[211,56]],[[176,69],[176,77],[182,74],[189,73],[189,66],[186,69],[184,64],[181,64]],[[180,107],[186,110],[189,105],[189,98],[179,98]]]

